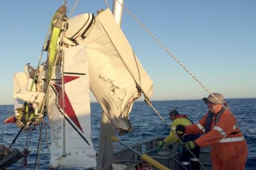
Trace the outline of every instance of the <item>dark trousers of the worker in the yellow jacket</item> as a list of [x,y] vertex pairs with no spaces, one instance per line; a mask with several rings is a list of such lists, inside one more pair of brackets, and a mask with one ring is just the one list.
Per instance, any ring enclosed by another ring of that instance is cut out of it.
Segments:
[[[200,147],[196,146],[194,149],[191,149],[190,153],[189,150],[183,149],[180,156],[180,162],[185,167],[182,167],[181,169],[188,169],[188,170],[199,170],[200,169],[200,163],[197,161],[199,159],[200,155]],[[196,158],[194,157],[196,156]]]

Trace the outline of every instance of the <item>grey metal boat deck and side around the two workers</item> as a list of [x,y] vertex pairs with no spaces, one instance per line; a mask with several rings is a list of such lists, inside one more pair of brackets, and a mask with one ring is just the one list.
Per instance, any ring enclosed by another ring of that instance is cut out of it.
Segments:
[[[136,149],[142,154],[146,154],[150,156],[151,158],[155,159],[155,161],[158,161],[162,165],[168,167],[169,169],[179,169],[180,165],[178,163],[179,160],[179,154],[178,154],[178,145],[172,145],[172,149],[169,149],[169,147],[163,147],[159,148],[157,146],[158,141],[164,139],[165,136],[156,136],[148,140],[144,140],[138,143],[135,143],[133,145],[130,145],[133,149]],[[113,161],[117,160],[140,160],[140,156],[134,153],[132,150],[129,150],[126,147],[121,147],[120,149],[115,150]],[[200,158],[199,161],[203,166],[201,166],[200,170],[210,170],[212,169],[212,161],[210,159],[210,147],[202,147],[200,152]],[[129,164],[129,162],[122,162]],[[113,169],[115,169],[115,166],[117,167],[117,164],[113,166]],[[121,164],[118,165],[118,168],[120,169]],[[129,169],[129,167],[125,167],[123,169]]]

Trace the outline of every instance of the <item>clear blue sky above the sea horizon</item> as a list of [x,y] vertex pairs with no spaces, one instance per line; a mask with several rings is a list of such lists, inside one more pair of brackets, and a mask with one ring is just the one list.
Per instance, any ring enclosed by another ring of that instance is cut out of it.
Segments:
[[[67,2],[69,14],[75,1]],[[62,3],[1,1],[0,104],[12,104],[13,73],[23,72],[26,63],[37,66],[50,20]],[[124,0],[124,6],[210,91],[226,98],[256,97],[255,0]],[[102,8],[104,0],[80,0],[72,16]],[[208,95],[126,12],[121,28],[151,76],[152,100]]]

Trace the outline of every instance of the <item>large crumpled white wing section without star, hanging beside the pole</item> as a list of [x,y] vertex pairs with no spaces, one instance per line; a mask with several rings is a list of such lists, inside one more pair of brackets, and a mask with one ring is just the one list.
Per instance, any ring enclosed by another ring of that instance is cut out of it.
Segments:
[[[78,15],[68,22],[87,21],[87,16]],[[113,127],[120,134],[130,132],[132,126],[129,113],[133,102],[141,96],[142,91],[151,98],[151,78],[137,59],[110,9],[97,15],[90,26],[87,36],[75,39],[78,44],[87,44],[90,89]],[[71,37],[71,32],[77,33],[74,26],[69,24],[66,35]]]

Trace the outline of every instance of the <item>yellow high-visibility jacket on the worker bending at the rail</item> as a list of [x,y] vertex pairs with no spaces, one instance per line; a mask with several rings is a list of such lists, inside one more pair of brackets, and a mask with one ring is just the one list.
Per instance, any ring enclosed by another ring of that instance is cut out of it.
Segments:
[[187,125],[191,124],[191,121],[185,117],[175,118],[174,121],[172,121],[171,130],[169,132],[169,135],[164,139],[165,143],[179,142],[178,136],[175,131],[176,126],[178,124],[183,124],[184,126],[187,126]]

